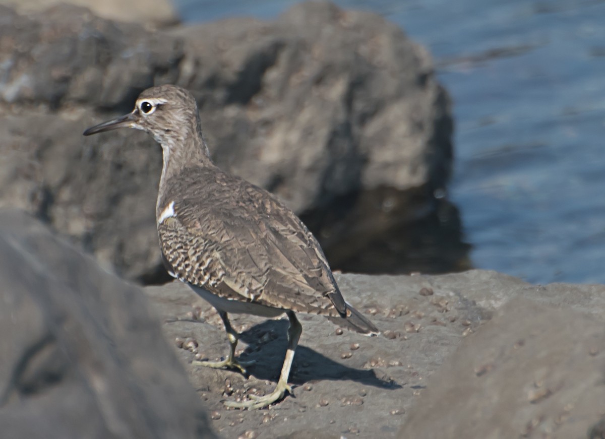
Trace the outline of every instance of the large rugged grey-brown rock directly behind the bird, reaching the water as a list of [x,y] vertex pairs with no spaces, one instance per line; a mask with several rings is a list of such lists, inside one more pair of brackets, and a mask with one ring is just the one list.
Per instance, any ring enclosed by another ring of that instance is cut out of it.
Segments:
[[427,241],[446,243],[428,246],[431,266],[468,266],[457,211],[434,198],[450,173],[449,99],[427,52],[379,16],[311,2],[272,22],[150,32],[63,5],[2,8],[0,22],[0,205],[47,219],[121,275],[165,279],[160,148],[142,133],[80,134],[159,83],[192,90],[217,164],[301,213],[335,268],[417,269],[402,261]]

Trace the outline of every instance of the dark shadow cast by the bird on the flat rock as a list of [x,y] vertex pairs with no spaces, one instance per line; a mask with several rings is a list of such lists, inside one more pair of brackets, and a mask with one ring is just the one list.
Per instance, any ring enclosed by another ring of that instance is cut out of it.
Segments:
[[[288,325],[287,320],[267,320],[240,334],[240,340],[248,344],[240,358],[255,362],[246,368],[251,376],[273,381],[279,378],[286,353]],[[372,369],[345,366],[299,344],[292,363],[289,382],[302,385],[319,380],[352,380],[382,389],[402,388],[393,380],[376,376],[376,372]]]

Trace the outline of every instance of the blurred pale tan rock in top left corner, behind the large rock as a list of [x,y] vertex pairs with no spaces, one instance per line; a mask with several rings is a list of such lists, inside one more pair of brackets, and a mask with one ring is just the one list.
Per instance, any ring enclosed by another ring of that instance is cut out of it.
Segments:
[[44,11],[59,3],[86,7],[103,18],[138,22],[148,27],[162,27],[180,21],[169,0],[0,0],[1,5],[14,7],[23,14]]

